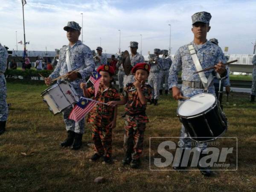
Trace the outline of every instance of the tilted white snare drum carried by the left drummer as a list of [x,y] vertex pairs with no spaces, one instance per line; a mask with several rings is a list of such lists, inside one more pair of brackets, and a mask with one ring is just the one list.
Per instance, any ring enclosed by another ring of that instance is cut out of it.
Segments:
[[79,100],[76,91],[67,81],[61,81],[60,83],[52,85],[44,90],[41,96],[54,115],[61,113]]

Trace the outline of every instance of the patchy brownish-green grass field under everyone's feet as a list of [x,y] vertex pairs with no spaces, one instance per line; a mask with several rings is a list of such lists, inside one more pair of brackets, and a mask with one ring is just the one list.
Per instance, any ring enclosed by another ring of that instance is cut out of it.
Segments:
[[[113,164],[91,162],[91,131],[86,126],[79,151],[60,148],[66,132],[61,115],[53,116],[40,93],[43,84],[21,81],[7,83],[8,102],[12,103],[7,131],[0,136],[0,191],[256,191],[256,104],[249,94],[231,93],[224,111],[229,120],[226,137],[238,137],[238,170],[215,172],[204,177],[198,171],[155,172],[149,170],[149,137],[178,137],[180,122],[177,102],[162,96],[157,107],[148,106],[144,152],[140,169],[121,166],[124,120],[118,108],[113,131]],[[224,101],[226,97],[224,96]],[[234,162],[233,162],[234,163]],[[96,177],[105,183],[94,183]]]

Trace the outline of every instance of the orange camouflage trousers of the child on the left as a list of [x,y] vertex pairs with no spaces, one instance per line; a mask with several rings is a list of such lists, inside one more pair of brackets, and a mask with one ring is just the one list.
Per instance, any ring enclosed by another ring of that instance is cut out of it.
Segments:
[[111,157],[112,154],[112,128],[93,125],[94,151],[99,155]]

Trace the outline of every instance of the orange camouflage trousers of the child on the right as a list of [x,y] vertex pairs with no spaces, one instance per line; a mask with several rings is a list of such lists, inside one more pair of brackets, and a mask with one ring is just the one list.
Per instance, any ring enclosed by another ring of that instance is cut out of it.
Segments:
[[125,115],[124,149],[126,154],[137,160],[143,151],[143,139],[148,118]]

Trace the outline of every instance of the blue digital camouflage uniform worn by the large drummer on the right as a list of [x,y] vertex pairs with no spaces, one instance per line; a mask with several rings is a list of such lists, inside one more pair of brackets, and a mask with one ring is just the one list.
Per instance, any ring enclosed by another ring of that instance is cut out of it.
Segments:
[[[192,41],[190,44],[193,44],[195,47],[195,51],[197,52],[198,60],[200,61],[200,64],[203,69],[208,67],[213,67],[215,64],[217,64],[219,61],[225,62],[224,54],[220,47],[217,45],[211,43],[210,41],[207,41],[205,44],[203,44],[199,49],[198,46],[195,45],[195,43]],[[188,44],[189,45],[189,44]],[[192,57],[189,53],[188,45],[184,45],[180,47],[176,54],[173,61],[173,64],[169,70],[169,88],[172,87],[178,87],[178,72],[182,70],[182,81],[201,81],[199,75],[196,73],[197,70],[195,68],[195,64],[192,60]],[[212,70],[205,71],[204,74],[208,78],[210,73],[212,73]],[[185,97],[192,97],[200,93],[204,93],[203,89],[194,89],[190,88],[188,86],[182,85],[181,87],[181,93]],[[215,95],[215,89],[213,84],[208,87],[208,93],[212,93]],[[180,100],[178,102],[178,105],[180,105],[184,100]],[[180,137],[187,137],[187,138],[181,138],[180,140],[183,141],[185,147],[190,147],[189,142],[190,139],[188,138],[188,134],[182,125],[181,131],[180,131]],[[206,145],[200,145],[199,148],[205,148]]]

